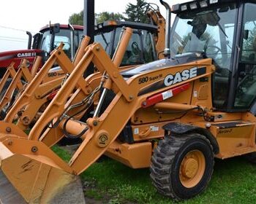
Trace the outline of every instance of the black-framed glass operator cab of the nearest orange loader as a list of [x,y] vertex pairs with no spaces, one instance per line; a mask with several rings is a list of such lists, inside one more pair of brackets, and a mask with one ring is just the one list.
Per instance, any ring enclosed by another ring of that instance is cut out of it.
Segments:
[[222,111],[256,113],[255,3],[190,1],[172,8],[171,55],[197,52],[213,59],[213,106]]

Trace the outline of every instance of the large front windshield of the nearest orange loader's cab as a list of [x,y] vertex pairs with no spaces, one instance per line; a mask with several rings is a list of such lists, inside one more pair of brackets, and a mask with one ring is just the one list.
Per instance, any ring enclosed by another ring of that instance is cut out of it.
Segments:
[[225,4],[203,11],[178,14],[173,25],[170,48],[173,55],[205,52],[208,58],[221,58],[233,50],[236,9]]

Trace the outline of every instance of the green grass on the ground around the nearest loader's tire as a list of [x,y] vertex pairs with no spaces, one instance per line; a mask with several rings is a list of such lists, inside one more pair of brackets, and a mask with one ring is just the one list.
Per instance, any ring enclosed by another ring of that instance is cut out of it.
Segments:
[[[53,151],[67,160],[67,152],[54,148]],[[104,159],[91,165],[81,178],[87,186],[86,197],[102,200],[102,203],[175,203],[152,186],[148,169],[135,170]],[[215,160],[208,188],[197,197],[180,203],[255,203],[255,181],[256,165],[243,157]]]

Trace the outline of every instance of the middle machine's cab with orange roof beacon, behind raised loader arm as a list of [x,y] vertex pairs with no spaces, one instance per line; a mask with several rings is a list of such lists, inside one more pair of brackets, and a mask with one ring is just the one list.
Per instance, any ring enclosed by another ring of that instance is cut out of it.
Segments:
[[135,66],[157,60],[154,34],[157,26],[128,21],[105,21],[95,28],[94,42],[99,42],[105,51],[113,57],[118,45],[123,27],[133,29],[121,66]]

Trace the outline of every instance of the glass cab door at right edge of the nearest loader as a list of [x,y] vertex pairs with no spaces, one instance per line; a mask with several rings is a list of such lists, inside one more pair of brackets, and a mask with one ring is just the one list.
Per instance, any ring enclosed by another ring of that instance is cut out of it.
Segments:
[[241,52],[234,109],[248,110],[256,99],[256,4],[244,4]]

